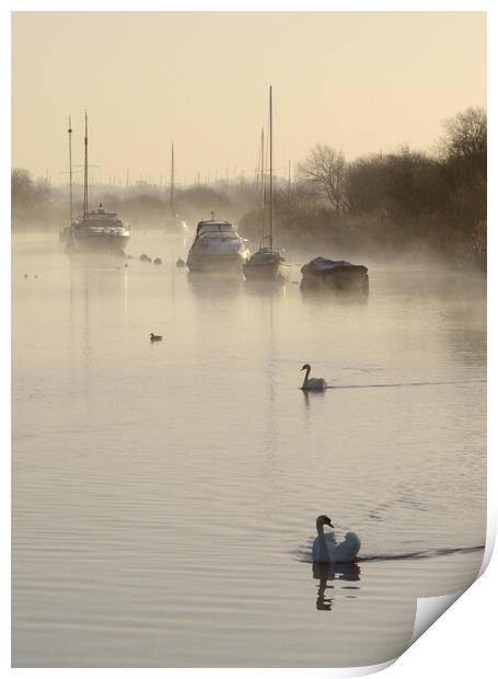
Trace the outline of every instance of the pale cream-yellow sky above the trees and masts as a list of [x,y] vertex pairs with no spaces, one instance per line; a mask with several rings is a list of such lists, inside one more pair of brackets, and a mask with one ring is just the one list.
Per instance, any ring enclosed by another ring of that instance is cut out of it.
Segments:
[[95,180],[253,175],[274,88],[276,166],[316,142],[346,158],[430,149],[441,120],[486,106],[480,12],[18,12],[12,164],[67,182],[67,116]]

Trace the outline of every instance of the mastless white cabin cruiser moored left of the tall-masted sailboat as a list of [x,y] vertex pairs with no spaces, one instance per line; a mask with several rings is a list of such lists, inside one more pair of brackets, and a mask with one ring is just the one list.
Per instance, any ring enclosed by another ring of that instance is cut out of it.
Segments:
[[199,221],[194,243],[188,252],[190,272],[241,272],[248,256],[245,241],[232,223],[215,219]]

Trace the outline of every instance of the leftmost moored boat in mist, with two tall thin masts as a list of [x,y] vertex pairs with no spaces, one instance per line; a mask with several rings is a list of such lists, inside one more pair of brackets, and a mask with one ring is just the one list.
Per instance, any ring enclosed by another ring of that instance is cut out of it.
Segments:
[[83,215],[80,219],[72,217],[72,154],[71,118],[69,118],[69,215],[70,225],[60,233],[60,241],[69,254],[95,252],[124,254],[130,238],[130,226],[123,223],[116,212],[108,212],[102,203],[96,210],[89,212],[89,158],[88,158],[88,117],[84,114],[84,194]]

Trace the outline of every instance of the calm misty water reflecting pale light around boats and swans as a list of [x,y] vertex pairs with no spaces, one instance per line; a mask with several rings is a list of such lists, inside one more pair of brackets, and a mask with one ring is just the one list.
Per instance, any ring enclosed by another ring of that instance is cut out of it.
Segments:
[[[305,253],[267,289],[189,276],[186,246],[13,239],[13,665],[393,658],[483,557],[483,277],[363,257],[356,303],[303,298]],[[358,564],[313,567],[323,513]]]

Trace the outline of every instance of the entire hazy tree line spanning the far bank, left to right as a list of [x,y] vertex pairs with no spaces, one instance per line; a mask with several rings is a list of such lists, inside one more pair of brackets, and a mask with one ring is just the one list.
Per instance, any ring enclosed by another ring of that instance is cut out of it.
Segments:
[[[453,262],[486,265],[487,116],[468,107],[443,122],[431,152],[401,147],[347,161],[327,143],[317,143],[298,165],[294,181],[275,182],[274,215],[279,244],[326,249],[327,253],[408,248],[431,249]],[[162,226],[166,191],[113,191],[92,187],[92,200],[104,200],[126,221]],[[67,220],[67,196],[26,170],[12,171],[14,229],[45,225],[60,229]],[[217,216],[239,220],[251,240],[268,219],[260,182],[177,188],[175,209],[195,221]],[[76,210],[78,212],[78,209]]]

